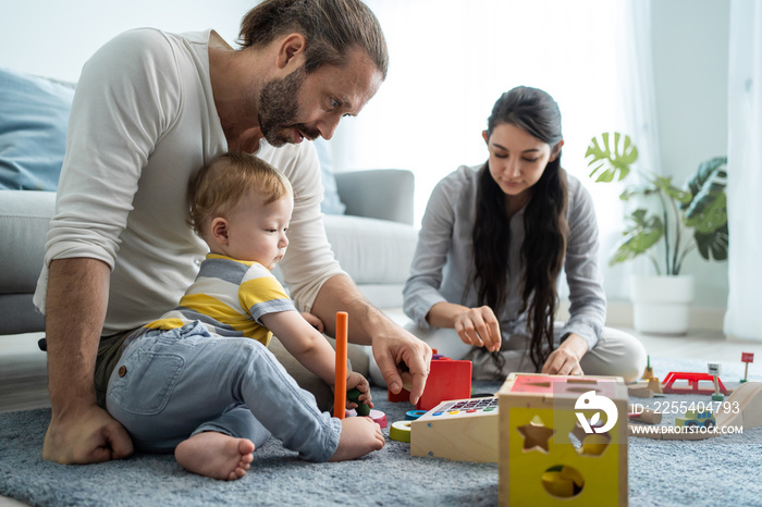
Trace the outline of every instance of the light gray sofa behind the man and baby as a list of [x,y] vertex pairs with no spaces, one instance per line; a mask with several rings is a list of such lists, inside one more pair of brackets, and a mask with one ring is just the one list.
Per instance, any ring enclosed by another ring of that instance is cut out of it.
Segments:
[[[362,294],[379,308],[402,306],[417,232],[413,226],[414,176],[405,170],[336,173],[345,214],[327,214],[333,251]],[[0,341],[41,332],[32,304],[45,256],[56,194],[0,190]]]

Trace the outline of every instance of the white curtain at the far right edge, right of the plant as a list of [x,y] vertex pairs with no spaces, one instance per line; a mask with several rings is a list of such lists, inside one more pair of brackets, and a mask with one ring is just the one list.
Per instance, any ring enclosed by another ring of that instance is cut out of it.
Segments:
[[762,0],[733,0],[729,46],[725,334],[762,339]]

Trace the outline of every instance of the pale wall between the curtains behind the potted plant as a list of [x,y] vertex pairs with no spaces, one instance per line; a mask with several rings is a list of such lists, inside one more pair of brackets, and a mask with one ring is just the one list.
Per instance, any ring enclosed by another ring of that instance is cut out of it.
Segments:
[[[652,1],[652,48],[662,169],[683,184],[699,163],[727,154],[729,2]],[[727,262],[697,252],[684,272],[696,276],[696,305],[727,304]]]

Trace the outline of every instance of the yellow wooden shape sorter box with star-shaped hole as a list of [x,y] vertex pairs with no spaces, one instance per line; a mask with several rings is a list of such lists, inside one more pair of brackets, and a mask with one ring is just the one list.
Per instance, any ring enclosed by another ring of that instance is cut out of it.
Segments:
[[622,378],[511,373],[497,398],[500,505],[627,505]]

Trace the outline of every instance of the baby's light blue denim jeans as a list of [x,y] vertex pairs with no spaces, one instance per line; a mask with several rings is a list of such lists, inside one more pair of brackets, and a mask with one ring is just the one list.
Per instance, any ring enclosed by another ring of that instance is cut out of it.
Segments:
[[217,431],[256,447],[272,434],[304,459],[328,461],[341,434],[339,419],[321,413],[261,343],[211,335],[200,322],[128,343],[106,399],[135,447],[150,453]]

